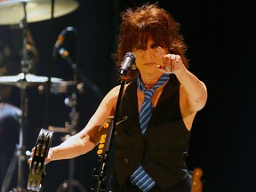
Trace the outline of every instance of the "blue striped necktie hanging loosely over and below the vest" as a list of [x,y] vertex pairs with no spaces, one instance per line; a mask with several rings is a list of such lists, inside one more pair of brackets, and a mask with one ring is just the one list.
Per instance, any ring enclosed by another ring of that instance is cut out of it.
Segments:
[[[151,98],[156,92],[156,89],[166,83],[169,79],[170,74],[164,74],[158,79],[156,85],[152,89],[146,90],[144,85],[140,81],[140,77],[138,76],[137,78],[137,86],[140,88],[141,92],[144,92],[144,100],[140,108],[140,128],[143,135],[147,130],[149,119],[151,118],[154,111],[154,106],[152,104]],[[155,180],[153,180],[148,175],[148,173],[145,172],[141,165],[139,165],[137,170],[132,173],[130,180],[132,185],[136,185],[143,192],[147,192],[156,185]]]

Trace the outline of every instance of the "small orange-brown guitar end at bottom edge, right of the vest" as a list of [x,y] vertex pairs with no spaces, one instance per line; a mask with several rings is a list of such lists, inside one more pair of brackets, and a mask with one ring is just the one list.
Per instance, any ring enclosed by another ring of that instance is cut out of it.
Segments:
[[199,167],[196,167],[191,173],[190,177],[192,180],[192,190],[191,192],[202,192],[203,191],[203,182],[202,182],[203,170]]

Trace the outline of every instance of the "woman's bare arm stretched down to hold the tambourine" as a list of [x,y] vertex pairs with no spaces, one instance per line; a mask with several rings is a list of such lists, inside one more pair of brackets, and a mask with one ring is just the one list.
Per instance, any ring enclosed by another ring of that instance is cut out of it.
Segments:
[[[99,129],[100,125],[108,118],[108,116],[113,116],[116,97],[119,87],[113,88],[105,98],[101,101],[99,108],[96,110],[88,124],[84,127],[81,132],[76,133],[76,135],[71,136],[68,140],[62,142],[59,146],[50,148],[45,162],[68,159],[76,156],[81,156],[94,148],[100,140],[100,136],[106,132],[105,129]],[[31,153],[31,158],[28,163],[31,163],[34,149]]]

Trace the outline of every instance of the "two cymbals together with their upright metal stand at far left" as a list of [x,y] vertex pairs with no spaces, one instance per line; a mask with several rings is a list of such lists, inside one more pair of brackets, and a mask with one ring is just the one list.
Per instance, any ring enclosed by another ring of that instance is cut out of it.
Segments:
[[[75,10],[78,6],[74,1],[59,0],[59,4],[56,8],[60,8],[60,12],[55,12],[55,16],[61,16],[68,12]],[[65,4],[65,2],[67,4]],[[72,3],[71,3],[72,2]],[[71,4],[69,4],[71,3]],[[75,4],[74,4],[75,3]],[[34,5],[38,5],[37,8]],[[68,5],[66,8],[61,7],[61,5]],[[47,7],[49,6],[49,12],[47,12]],[[39,7],[39,8],[38,8]],[[17,188],[13,188],[12,191],[27,191],[24,186],[24,165],[27,162],[26,156],[26,140],[27,140],[27,126],[28,126],[28,95],[27,88],[30,85],[44,84],[48,82],[48,77],[44,76],[34,76],[29,74],[30,69],[33,65],[33,60],[30,60],[28,56],[28,48],[31,46],[28,44],[28,22],[33,22],[37,20],[48,20],[50,19],[50,4],[47,1],[29,1],[29,0],[10,0],[0,2],[0,25],[1,24],[20,24],[23,35],[23,50],[21,64],[21,73],[17,76],[1,76],[0,84],[16,85],[20,88],[20,109],[21,116],[19,119],[20,123],[20,134],[19,134],[19,144],[16,145],[15,153],[12,157],[12,161],[9,164],[7,173],[4,177],[4,182],[1,188],[2,192],[6,192],[9,188],[10,181],[12,180],[13,171],[18,168],[18,180]],[[45,13],[46,11],[46,13]],[[38,13],[36,18],[36,14]],[[43,12],[43,13],[42,13]],[[31,13],[33,13],[31,15]],[[22,20],[20,20],[23,18]],[[28,21],[28,22],[27,22]],[[31,51],[31,50],[30,50]],[[51,78],[51,81],[60,82],[61,79]]]

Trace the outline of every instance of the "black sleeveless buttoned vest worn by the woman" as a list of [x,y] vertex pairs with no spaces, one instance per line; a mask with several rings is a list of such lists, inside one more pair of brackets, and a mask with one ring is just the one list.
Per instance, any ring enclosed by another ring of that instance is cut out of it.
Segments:
[[164,86],[143,137],[136,80],[128,85],[120,103],[119,116],[128,118],[116,127],[115,178],[122,187],[142,164],[156,185],[167,189],[188,176],[189,132],[180,114],[180,82],[171,76]]

